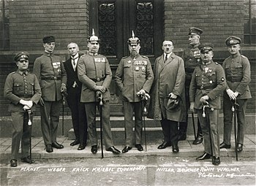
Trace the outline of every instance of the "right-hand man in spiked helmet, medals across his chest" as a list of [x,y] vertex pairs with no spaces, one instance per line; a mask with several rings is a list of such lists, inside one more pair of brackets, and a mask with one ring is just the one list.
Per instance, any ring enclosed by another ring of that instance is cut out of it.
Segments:
[[151,63],[146,56],[140,55],[140,39],[132,37],[128,39],[130,55],[121,59],[116,69],[115,81],[120,90],[120,98],[124,104],[124,128],[126,146],[123,153],[132,149],[134,126],[132,117],[135,113],[135,147],[142,151],[141,133],[143,123],[143,102],[141,97],[149,93],[154,80]]

